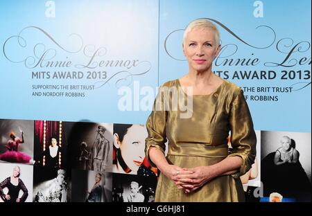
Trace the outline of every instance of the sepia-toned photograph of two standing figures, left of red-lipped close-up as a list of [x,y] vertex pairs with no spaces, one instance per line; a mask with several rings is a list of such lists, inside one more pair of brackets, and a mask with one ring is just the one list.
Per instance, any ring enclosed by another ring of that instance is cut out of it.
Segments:
[[71,168],[112,172],[112,124],[66,123]]

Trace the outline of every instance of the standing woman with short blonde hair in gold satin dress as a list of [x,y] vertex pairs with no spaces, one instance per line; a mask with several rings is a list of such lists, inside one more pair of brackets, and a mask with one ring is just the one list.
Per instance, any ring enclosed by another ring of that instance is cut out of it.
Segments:
[[[211,71],[219,52],[214,24],[197,19],[187,26],[183,53],[189,73],[160,87],[146,123],[146,156],[161,171],[155,201],[245,200],[239,176],[254,163],[256,135],[243,91]],[[180,107],[167,109],[177,101],[175,96],[182,104],[193,102],[190,118],[182,118],[185,110]],[[166,109],[158,109],[163,107],[159,104]],[[229,131],[232,154],[227,147]]]

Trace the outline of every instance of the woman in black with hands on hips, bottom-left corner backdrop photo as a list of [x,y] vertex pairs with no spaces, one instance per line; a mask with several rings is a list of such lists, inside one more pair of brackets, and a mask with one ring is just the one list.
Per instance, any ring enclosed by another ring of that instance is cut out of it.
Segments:
[[[21,169],[19,166],[13,168],[13,173],[0,183],[0,195],[5,202],[24,202],[28,197],[28,190],[23,181],[19,179]],[[8,193],[4,194],[3,188],[8,188]],[[23,195],[19,197],[19,190],[23,191]]]

